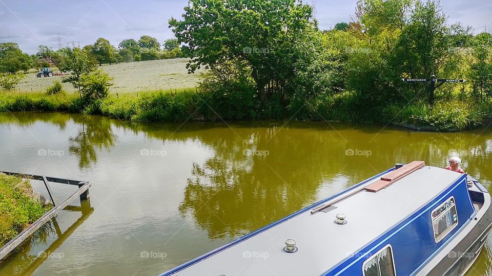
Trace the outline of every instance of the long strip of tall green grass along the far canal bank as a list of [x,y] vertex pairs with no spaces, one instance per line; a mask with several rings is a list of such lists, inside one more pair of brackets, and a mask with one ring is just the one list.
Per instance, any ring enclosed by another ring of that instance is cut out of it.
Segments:
[[283,119],[365,123],[404,123],[434,126],[438,130],[464,130],[486,125],[492,118],[492,104],[449,100],[433,108],[425,103],[392,104],[369,108],[356,94],[344,92],[319,95],[301,109],[289,106],[281,112],[273,101],[261,104],[253,92],[227,95],[196,89],[142,91],[110,95],[84,102],[77,94],[0,93],[0,111],[68,111],[102,114],[138,122],[182,122],[187,120]]

